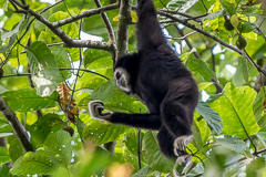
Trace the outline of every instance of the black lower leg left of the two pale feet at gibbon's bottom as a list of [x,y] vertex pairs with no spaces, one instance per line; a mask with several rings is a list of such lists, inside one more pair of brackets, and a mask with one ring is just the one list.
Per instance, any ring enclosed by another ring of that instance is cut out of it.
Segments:
[[166,157],[176,158],[176,155],[174,154],[174,136],[168,133],[168,129],[165,126],[162,126],[158,129],[158,147]]

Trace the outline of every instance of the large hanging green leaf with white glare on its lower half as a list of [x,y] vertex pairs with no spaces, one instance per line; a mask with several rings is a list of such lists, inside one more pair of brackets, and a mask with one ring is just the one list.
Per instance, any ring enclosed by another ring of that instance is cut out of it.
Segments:
[[38,95],[51,95],[60,83],[59,69],[53,54],[43,42],[34,42],[27,50],[27,56]]

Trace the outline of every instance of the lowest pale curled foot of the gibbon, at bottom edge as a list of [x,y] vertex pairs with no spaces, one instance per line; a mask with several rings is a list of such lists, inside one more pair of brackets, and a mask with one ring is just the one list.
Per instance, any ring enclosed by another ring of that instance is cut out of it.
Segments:
[[192,156],[191,155],[183,155],[176,158],[173,175],[174,177],[185,177],[187,173],[193,167]]

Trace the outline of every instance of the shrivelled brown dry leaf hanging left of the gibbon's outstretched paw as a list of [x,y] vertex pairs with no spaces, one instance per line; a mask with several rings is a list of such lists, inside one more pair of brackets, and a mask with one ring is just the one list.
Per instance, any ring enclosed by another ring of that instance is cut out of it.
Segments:
[[64,114],[66,115],[71,123],[76,124],[75,116],[79,116],[79,108],[74,103],[75,102],[74,98],[72,98],[70,103],[70,111],[69,112],[66,111],[71,97],[71,91],[69,86],[66,84],[60,84],[58,85],[57,92],[59,93],[60,96],[59,104],[63,110]]

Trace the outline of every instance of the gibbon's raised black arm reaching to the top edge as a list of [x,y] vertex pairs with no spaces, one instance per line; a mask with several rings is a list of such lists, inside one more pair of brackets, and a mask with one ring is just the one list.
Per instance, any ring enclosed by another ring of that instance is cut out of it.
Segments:
[[156,49],[166,44],[152,0],[137,0],[137,50]]

